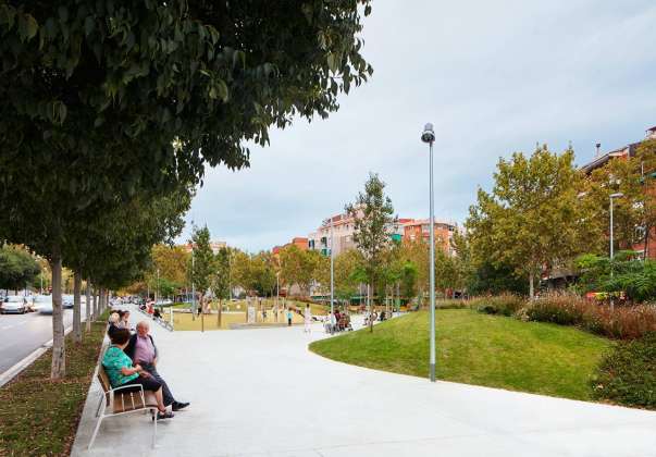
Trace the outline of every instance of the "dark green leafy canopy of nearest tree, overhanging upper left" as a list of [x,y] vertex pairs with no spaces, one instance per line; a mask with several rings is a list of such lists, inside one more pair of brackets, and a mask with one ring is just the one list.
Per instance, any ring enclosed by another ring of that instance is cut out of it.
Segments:
[[38,178],[83,208],[247,165],[244,140],[371,74],[359,4],[0,0],[3,189]]

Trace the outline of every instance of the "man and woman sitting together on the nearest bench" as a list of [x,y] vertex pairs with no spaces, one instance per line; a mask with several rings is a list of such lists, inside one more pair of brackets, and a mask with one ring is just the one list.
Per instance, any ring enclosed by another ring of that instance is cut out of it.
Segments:
[[136,332],[129,329],[129,311],[115,311],[110,314],[108,336],[110,347],[102,357],[102,367],[112,387],[134,386],[128,391],[151,391],[158,403],[158,420],[170,419],[173,411],[189,406],[177,402],[166,382],[157,371],[158,348],[150,335],[150,325],[141,321]]

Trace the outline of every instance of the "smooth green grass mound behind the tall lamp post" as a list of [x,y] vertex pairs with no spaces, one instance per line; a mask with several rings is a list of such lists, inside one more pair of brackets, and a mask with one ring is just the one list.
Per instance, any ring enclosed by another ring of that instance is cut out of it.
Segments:
[[[436,312],[437,378],[589,400],[590,380],[608,339],[574,328],[521,322],[469,309]],[[428,311],[373,330],[318,341],[310,349],[327,358],[395,373],[429,375]]]

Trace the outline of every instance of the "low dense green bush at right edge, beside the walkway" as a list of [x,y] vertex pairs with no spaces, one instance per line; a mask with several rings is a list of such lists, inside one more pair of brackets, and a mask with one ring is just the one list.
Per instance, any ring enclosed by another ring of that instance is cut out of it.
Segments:
[[592,390],[596,399],[656,409],[656,332],[618,344],[602,361]]

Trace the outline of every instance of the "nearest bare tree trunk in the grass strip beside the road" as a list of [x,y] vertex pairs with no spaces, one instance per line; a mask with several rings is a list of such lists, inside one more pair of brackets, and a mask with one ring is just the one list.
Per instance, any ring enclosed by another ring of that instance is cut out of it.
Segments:
[[64,312],[62,309],[62,258],[59,247],[53,249],[52,271],[52,365],[50,378],[62,379],[66,374],[66,350],[64,342]]

